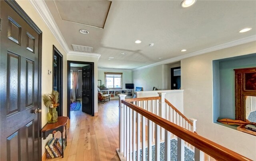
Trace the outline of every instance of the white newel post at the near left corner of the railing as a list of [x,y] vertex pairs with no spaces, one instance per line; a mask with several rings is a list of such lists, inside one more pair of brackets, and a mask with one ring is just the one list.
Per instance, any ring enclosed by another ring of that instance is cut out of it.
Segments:
[[124,152],[124,104],[122,100],[125,99],[125,94],[118,94],[119,97],[119,152]]

